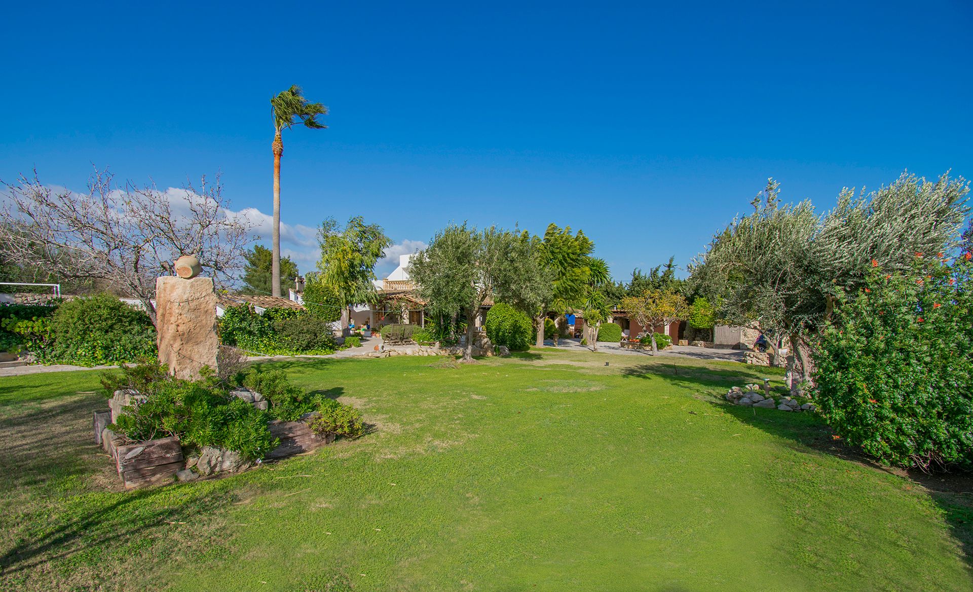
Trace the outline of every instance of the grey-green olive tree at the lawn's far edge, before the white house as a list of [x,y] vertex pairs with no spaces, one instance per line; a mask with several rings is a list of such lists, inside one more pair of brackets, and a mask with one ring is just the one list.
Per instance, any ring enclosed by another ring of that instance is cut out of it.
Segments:
[[494,227],[483,231],[451,224],[440,231],[429,247],[413,257],[409,274],[430,312],[439,318],[466,316],[463,361],[473,361],[476,318],[487,298],[514,303],[529,302],[536,289],[535,269],[520,258],[523,234]]

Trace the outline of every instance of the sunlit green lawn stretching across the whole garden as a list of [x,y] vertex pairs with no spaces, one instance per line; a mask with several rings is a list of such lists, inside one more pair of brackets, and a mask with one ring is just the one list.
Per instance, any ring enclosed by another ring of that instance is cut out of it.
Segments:
[[133,493],[90,443],[106,405],[76,391],[98,372],[0,378],[0,589],[973,588],[962,497],[834,454],[811,414],[720,399],[773,370],[551,350],[277,365],[374,432]]

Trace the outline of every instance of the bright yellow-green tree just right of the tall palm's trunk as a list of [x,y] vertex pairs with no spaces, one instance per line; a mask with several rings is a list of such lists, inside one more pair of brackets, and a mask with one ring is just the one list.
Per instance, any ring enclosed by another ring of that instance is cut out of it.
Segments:
[[365,224],[361,216],[353,216],[341,228],[329,218],[321,224],[318,242],[320,274],[314,280],[330,290],[342,307],[374,302],[375,265],[392,244],[381,227]]

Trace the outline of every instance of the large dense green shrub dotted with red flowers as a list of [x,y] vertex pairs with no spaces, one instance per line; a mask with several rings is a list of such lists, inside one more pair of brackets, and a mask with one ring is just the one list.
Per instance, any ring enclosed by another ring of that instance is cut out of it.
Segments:
[[967,257],[918,257],[908,273],[872,269],[861,292],[840,298],[814,348],[818,409],[883,462],[973,467]]

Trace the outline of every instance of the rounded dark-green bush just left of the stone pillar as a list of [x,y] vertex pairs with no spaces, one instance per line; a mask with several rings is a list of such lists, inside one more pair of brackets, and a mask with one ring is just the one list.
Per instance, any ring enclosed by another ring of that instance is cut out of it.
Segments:
[[107,294],[65,301],[50,316],[18,322],[16,330],[45,363],[94,366],[156,358],[149,315]]

